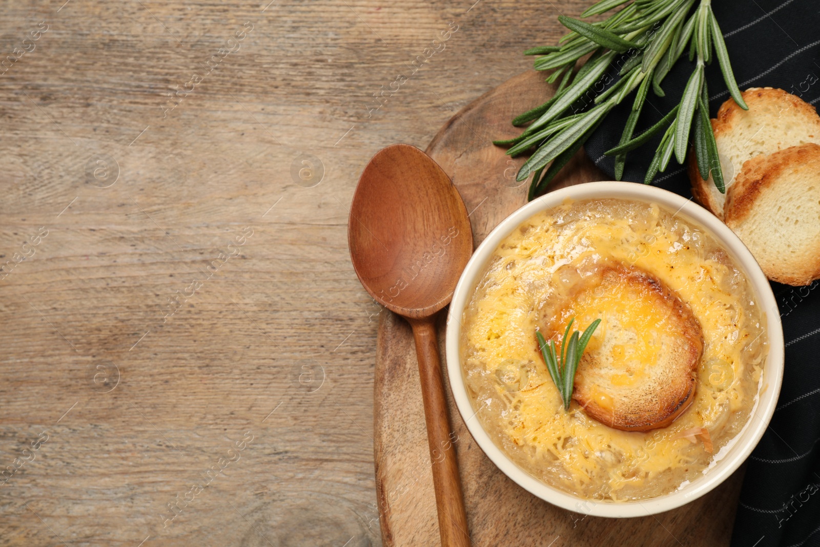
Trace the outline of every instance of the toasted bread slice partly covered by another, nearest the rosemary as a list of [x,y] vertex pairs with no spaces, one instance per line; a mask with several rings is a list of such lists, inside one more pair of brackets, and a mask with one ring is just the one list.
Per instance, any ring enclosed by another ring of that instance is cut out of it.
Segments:
[[[815,108],[782,89],[751,88],[743,92],[749,110],[729,98],[712,120],[727,192],[745,162],[799,144],[820,144],[820,116]],[[717,191],[712,177],[703,180],[697,158],[689,155],[692,195],[718,218],[724,217],[726,196]]]

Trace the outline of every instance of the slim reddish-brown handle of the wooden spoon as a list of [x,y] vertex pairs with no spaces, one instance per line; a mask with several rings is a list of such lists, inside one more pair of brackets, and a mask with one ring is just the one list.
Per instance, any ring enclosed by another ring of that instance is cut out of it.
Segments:
[[442,547],[470,547],[467,513],[458,476],[455,441],[458,436],[450,427],[447,399],[439,362],[439,343],[435,335],[435,314],[409,320],[416,339],[421,395],[430,444],[435,504],[439,513]]

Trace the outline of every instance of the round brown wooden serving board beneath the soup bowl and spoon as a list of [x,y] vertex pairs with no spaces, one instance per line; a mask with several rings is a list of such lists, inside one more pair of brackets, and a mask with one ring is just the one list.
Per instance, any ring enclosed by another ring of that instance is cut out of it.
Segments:
[[[523,158],[510,160],[491,141],[515,136],[518,130],[510,125],[512,117],[543,103],[552,93],[553,86],[544,83],[543,74],[518,75],[458,112],[427,147],[471,212],[476,245],[526,203],[529,186],[529,181],[519,185],[515,180]],[[581,150],[551,188],[605,178]],[[439,317],[442,352],[445,314],[446,309]],[[441,362],[445,362],[443,353]],[[708,495],[667,513],[629,519],[586,517],[548,504],[504,476],[472,440],[446,380],[445,385],[458,435],[455,447],[473,545],[729,544],[742,467]],[[376,495],[384,545],[439,545],[412,331],[401,317],[386,310],[380,314],[374,395]]]

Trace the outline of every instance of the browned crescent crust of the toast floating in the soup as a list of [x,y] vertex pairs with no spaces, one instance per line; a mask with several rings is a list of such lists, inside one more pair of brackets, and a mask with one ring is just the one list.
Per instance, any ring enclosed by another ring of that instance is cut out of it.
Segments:
[[[623,283],[639,289],[651,305],[662,308],[665,321],[668,321],[664,322],[664,333],[672,335],[674,343],[667,348],[671,353],[663,356],[662,363],[643,363],[645,371],[649,371],[647,374],[657,377],[648,376],[647,385],[628,390],[634,394],[632,398],[620,397],[617,390],[609,391],[604,371],[611,362],[599,362],[595,352],[585,352],[578,367],[572,398],[588,415],[614,429],[649,431],[666,427],[689,408],[695,397],[695,371],[704,345],[700,323],[671,289],[639,268],[620,264],[604,267],[599,283]],[[661,365],[663,370],[654,368]],[[602,374],[604,376],[600,376]],[[648,387],[653,388],[650,395],[647,395]],[[613,408],[599,404],[601,394],[613,401]]]

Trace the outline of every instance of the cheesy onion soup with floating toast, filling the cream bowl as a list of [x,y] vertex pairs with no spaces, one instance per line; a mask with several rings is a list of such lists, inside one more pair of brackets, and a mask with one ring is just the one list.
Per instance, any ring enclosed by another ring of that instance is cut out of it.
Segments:
[[[754,292],[717,241],[623,199],[567,200],[525,221],[462,325],[467,393],[494,443],[547,485],[609,502],[667,494],[717,463],[768,352]],[[588,326],[576,348],[571,330]]]

